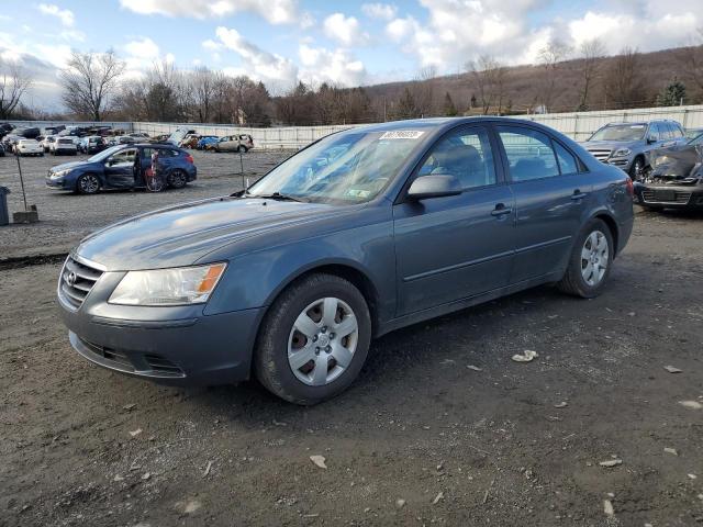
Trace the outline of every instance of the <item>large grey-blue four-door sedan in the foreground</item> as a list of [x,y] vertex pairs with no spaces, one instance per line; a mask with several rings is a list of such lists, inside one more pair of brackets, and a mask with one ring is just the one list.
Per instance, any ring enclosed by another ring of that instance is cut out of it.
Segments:
[[349,386],[372,337],[542,283],[601,293],[632,191],[537,123],[356,127],[246,192],[83,239],[60,272],[60,316],[102,367],[172,384],[255,375],[313,404]]

